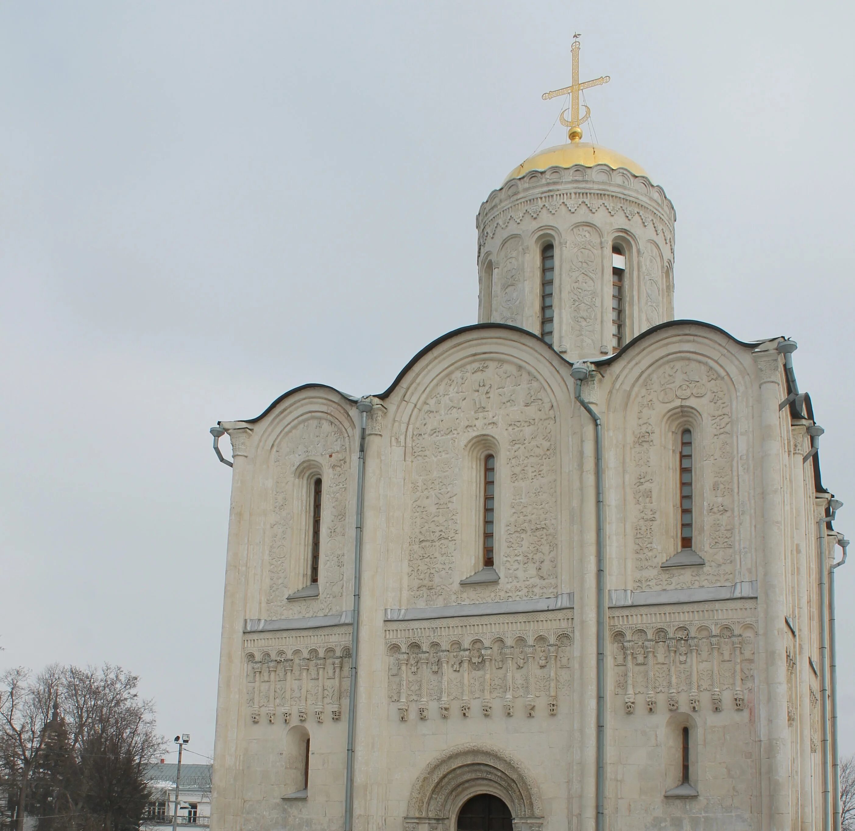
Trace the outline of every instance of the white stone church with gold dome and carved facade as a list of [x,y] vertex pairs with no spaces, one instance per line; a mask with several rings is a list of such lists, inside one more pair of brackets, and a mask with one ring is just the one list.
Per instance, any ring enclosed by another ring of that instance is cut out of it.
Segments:
[[674,206],[583,121],[481,205],[477,324],[221,422],[215,831],[837,818],[795,343],[674,320]]

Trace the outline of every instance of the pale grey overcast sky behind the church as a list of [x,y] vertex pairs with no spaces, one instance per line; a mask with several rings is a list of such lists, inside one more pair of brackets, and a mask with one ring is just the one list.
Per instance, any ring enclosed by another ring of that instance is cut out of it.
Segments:
[[[208,428],[306,381],[380,392],[475,322],[475,213],[563,141],[540,95],[574,31],[583,80],[611,76],[599,143],[675,203],[677,316],[798,340],[855,534],[853,17],[0,3],[0,669],[120,663],[211,752],[230,474]],[[851,752],[855,563],[838,586]]]

